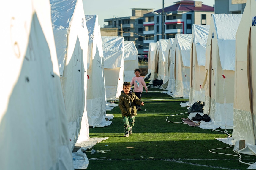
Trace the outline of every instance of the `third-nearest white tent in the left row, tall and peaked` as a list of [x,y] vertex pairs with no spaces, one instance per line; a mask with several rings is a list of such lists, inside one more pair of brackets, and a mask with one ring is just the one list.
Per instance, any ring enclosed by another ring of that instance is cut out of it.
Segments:
[[106,121],[106,93],[103,68],[103,51],[97,15],[86,15],[89,34],[87,61],[87,116],[91,127],[104,127]]

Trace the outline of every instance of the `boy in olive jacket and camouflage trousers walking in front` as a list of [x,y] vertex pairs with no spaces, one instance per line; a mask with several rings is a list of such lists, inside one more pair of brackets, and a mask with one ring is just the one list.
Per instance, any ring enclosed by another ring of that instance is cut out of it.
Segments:
[[135,122],[135,116],[137,115],[136,104],[144,106],[144,102],[141,101],[131,90],[131,84],[124,82],[123,91],[119,96],[119,108],[122,112],[124,122],[124,137],[129,137],[132,134],[132,127]]

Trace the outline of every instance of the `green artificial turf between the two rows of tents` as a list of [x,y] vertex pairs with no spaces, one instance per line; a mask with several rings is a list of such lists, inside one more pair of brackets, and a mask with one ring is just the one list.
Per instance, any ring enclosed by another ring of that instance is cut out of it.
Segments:
[[[161,89],[149,88],[148,90],[160,91]],[[188,99],[180,98],[170,101],[152,101],[151,99],[172,99],[172,97],[160,92],[143,92],[142,100],[145,101],[145,105],[141,106],[142,110],[137,112],[135,126],[132,128],[133,133],[129,137],[123,137],[123,119],[118,106],[107,111],[107,114],[114,115],[110,126],[89,129],[90,137],[108,137],[107,140],[94,145],[93,149],[111,151],[106,151],[106,154],[86,152],[89,159],[105,157],[103,160],[89,160],[88,170],[218,170],[249,167],[249,165],[238,162],[237,156],[209,152],[210,149],[229,146],[214,139],[214,137],[227,137],[227,134],[191,127],[187,124],[171,123],[181,122],[182,117],[188,116],[187,113],[179,114],[187,112],[187,108],[181,107],[180,103]],[[170,116],[175,114],[179,115]],[[169,116],[168,119],[167,116]],[[167,122],[166,119],[171,122]],[[228,133],[232,135],[232,130]],[[215,151],[236,155],[233,147]],[[145,159],[149,157],[154,157],[154,159]],[[242,154],[242,161],[254,163],[256,157]]]

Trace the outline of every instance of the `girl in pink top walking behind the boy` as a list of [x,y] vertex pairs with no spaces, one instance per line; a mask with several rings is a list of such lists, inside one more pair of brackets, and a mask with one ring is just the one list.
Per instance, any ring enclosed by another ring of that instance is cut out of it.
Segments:
[[[131,86],[134,85],[133,92],[140,99],[142,91],[143,91],[143,86],[144,86],[146,92],[148,92],[148,88],[146,86],[144,78],[140,77],[140,69],[135,69],[134,74],[136,76],[132,77]],[[136,104],[136,108],[137,108],[137,110],[141,110],[140,105]]]

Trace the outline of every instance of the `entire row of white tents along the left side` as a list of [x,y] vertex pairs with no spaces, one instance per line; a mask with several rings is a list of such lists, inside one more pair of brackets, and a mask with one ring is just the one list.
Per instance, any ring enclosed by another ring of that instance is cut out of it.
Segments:
[[3,6],[11,8],[0,12],[1,169],[74,169],[75,144],[90,126],[111,124],[107,100],[131,80],[138,51],[123,37],[101,37],[82,0]]

